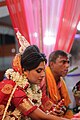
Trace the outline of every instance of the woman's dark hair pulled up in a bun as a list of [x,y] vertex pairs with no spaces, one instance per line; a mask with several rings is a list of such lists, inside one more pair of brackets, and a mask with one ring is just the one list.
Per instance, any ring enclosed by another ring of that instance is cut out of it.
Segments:
[[28,46],[21,56],[21,66],[24,70],[35,69],[42,61],[47,63],[46,56],[40,52],[36,45]]

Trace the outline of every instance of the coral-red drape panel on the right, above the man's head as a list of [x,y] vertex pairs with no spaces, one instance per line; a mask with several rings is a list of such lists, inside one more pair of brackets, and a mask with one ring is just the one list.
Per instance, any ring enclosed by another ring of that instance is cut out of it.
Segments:
[[55,50],[70,52],[80,17],[80,0],[65,0],[59,21]]

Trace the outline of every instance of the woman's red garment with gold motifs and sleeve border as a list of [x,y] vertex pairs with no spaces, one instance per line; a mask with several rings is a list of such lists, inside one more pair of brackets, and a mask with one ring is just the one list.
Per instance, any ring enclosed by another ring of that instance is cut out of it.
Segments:
[[[11,94],[14,86],[15,86],[15,82],[12,80],[3,80],[2,82],[0,82],[0,120],[2,119],[4,109],[6,107],[6,104],[8,102],[8,99],[10,97],[10,94]],[[15,107],[18,107],[23,102],[24,99],[26,99],[26,101],[28,103],[27,95],[24,92],[24,90],[21,87],[17,87],[17,89],[15,90],[15,92],[13,94],[11,103]],[[31,105],[30,109],[26,108],[26,110],[22,111],[22,113],[24,115],[28,115],[30,112],[34,111],[36,108],[37,108],[37,106]]]

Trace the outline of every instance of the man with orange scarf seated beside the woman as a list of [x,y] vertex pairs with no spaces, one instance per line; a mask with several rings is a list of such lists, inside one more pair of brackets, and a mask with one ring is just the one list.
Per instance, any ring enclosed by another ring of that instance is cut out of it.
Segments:
[[70,96],[64,81],[68,73],[70,55],[62,50],[53,51],[49,56],[49,66],[46,67],[46,87],[49,98],[62,105],[55,109],[56,115],[72,118],[73,112],[69,109]]

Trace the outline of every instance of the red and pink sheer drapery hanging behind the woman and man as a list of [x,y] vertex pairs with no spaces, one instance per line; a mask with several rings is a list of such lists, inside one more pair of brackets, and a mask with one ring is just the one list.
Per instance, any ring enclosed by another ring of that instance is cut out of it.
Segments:
[[12,24],[47,57],[70,52],[80,20],[80,0],[6,0]]

